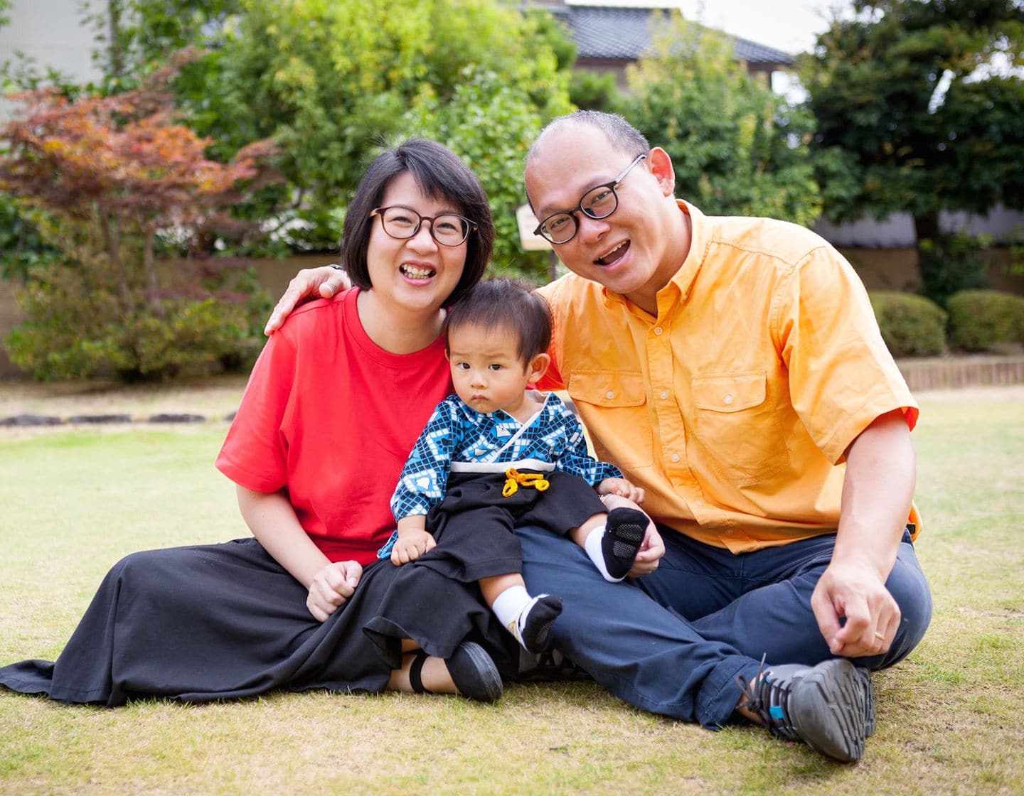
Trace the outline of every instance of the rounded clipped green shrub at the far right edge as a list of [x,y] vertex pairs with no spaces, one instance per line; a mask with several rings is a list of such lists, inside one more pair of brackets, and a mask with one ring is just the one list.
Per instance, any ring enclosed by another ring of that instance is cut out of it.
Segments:
[[1024,344],[1024,299],[999,291],[961,291],[946,302],[949,345],[991,351]]

